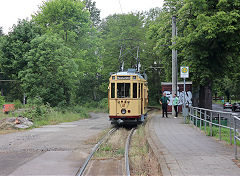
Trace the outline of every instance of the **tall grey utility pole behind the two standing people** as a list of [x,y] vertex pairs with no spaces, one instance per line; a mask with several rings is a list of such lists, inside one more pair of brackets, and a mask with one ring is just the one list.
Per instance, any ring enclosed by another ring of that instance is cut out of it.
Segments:
[[[176,45],[175,38],[177,36],[176,16],[172,16],[172,46]],[[172,96],[177,94],[177,50],[172,49]],[[176,116],[174,107],[172,106],[172,115]]]

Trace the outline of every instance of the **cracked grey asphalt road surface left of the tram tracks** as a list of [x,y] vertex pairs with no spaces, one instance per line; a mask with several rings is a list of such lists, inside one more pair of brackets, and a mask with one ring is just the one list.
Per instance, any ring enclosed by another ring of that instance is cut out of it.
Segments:
[[107,114],[0,135],[0,175],[75,175],[92,146],[87,139],[110,127]]

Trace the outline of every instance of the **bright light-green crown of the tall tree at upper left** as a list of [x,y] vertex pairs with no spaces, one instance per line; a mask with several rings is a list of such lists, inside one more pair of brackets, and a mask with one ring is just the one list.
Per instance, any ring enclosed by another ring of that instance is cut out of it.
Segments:
[[33,15],[33,20],[45,32],[56,33],[72,45],[76,45],[90,29],[90,14],[80,1],[46,1]]

